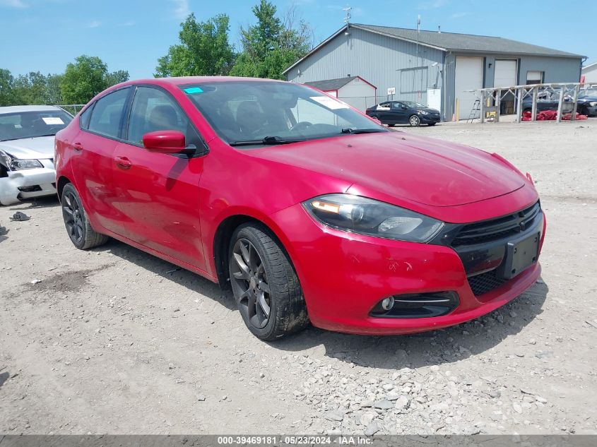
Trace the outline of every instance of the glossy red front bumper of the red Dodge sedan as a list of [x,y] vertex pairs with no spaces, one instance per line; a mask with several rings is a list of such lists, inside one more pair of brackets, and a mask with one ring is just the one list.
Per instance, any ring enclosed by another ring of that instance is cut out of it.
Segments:
[[[538,262],[534,263],[499,287],[475,296],[461,256],[449,246],[334,230],[314,221],[301,205],[274,217],[289,239],[309,318],[314,326],[328,330],[398,335],[453,326],[519,296],[536,282],[541,271]],[[543,234],[544,220],[541,225]],[[386,297],[438,292],[455,292],[456,309],[431,318],[371,316],[372,309]]]

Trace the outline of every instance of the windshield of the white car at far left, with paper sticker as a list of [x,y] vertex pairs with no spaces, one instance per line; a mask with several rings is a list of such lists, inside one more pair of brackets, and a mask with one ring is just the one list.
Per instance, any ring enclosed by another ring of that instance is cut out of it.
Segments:
[[0,141],[56,135],[73,117],[64,110],[0,114]]

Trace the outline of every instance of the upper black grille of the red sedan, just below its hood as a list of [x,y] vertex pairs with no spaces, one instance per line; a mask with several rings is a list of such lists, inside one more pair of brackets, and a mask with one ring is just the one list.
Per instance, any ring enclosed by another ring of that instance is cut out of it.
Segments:
[[539,202],[497,219],[485,220],[464,225],[452,241],[452,246],[481,244],[483,242],[497,241],[505,237],[524,232],[533,225],[539,217],[541,207]]

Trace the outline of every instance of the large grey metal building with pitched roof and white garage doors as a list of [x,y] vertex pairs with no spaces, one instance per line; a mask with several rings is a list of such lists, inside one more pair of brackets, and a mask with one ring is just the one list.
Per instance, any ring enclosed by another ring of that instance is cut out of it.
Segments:
[[395,91],[394,99],[435,107],[449,121],[471,112],[476,98],[466,90],[579,82],[583,59],[502,37],[350,23],[284,73],[297,83],[360,76],[377,87],[367,106]]

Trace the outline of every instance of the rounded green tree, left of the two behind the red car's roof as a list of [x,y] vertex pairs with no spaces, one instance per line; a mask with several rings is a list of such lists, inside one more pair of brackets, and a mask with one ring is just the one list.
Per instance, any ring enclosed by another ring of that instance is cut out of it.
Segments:
[[181,23],[180,44],[158,59],[155,77],[220,76],[230,72],[235,54],[228,41],[230,19],[218,14],[206,22],[197,22],[190,14]]

